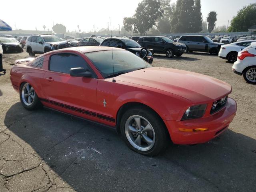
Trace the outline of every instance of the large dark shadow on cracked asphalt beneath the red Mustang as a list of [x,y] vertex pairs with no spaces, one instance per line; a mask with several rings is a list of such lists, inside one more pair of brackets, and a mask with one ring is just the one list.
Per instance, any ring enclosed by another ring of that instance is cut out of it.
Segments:
[[8,110],[4,124],[77,191],[256,188],[256,141],[231,130],[206,144],[170,145],[150,158],[129,150],[114,131],[44,109],[28,114],[20,102]]

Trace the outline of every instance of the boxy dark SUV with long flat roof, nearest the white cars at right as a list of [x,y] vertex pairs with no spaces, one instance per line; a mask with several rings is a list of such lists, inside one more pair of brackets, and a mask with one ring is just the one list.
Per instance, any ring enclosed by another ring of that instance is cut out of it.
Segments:
[[181,36],[178,42],[184,43],[189,52],[210,52],[213,55],[218,55],[220,46],[224,45],[223,43],[213,42],[210,38],[201,35],[184,35]]

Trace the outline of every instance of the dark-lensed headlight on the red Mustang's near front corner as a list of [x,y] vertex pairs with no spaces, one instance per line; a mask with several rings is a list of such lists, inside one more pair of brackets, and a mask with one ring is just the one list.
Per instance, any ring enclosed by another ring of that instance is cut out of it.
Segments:
[[190,106],[183,114],[181,120],[200,118],[204,115],[207,104]]

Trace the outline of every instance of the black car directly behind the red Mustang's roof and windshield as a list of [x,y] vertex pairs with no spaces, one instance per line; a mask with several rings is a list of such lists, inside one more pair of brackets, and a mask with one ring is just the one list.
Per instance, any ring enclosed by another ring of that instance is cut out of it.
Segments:
[[144,59],[146,62],[152,64],[153,62],[153,56],[152,56],[152,50],[148,50],[146,48],[142,48],[140,44],[138,44],[136,41],[128,39],[128,38],[107,38],[102,41],[100,46],[109,46],[109,47],[117,47],[126,49],[140,58]]

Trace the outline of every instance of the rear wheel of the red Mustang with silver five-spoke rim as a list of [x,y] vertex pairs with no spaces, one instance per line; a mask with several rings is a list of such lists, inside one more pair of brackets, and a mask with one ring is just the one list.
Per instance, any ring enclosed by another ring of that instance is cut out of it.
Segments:
[[20,101],[27,110],[33,110],[41,104],[34,88],[29,83],[23,83],[20,86]]

